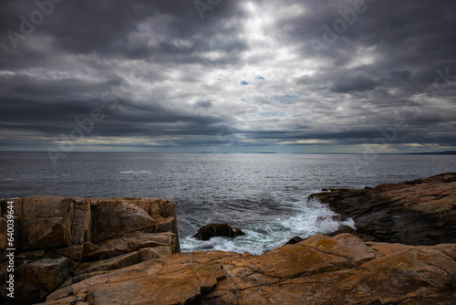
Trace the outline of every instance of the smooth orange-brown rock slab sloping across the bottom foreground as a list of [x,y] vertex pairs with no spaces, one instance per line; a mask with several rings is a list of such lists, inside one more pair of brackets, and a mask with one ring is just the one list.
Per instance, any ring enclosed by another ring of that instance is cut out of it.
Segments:
[[315,236],[261,256],[190,252],[110,271],[43,304],[454,304],[456,244]]

